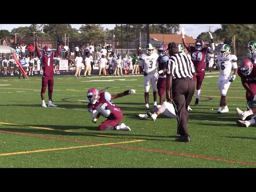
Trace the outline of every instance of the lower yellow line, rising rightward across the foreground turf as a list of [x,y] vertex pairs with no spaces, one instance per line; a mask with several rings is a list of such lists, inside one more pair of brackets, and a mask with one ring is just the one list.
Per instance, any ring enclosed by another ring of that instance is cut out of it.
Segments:
[[139,139],[139,140],[132,140],[132,141],[116,142],[116,143],[104,143],[104,144],[95,144],[95,145],[82,145],[82,146],[74,146],[74,147],[63,147],[63,148],[53,148],[53,149],[39,149],[39,150],[33,150],[33,151],[21,151],[21,152],[13,152],[13,153],[2,153],[2,154],[0,154],[0,156],[28,154],[28,153],[39,153],[39,152],[46,152],[46,151],[77,149],[77,148],[95,147],[95,146],[108,146],[108,145],[115,145],[115,144],[141,142],[141,141],[145,141],[145,140]]

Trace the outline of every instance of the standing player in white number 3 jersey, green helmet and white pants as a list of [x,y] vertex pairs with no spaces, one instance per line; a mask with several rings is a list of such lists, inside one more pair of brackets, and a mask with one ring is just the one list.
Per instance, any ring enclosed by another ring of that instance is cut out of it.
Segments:
[[156,72],[156,62],[158,54],[154,53],[154,47],[151,44],[146,45],[146,50],[146,53],[140,55],[140,71],[142,71],[142,68],[144,68],[144,97],[146,103],[145,110],[148,110],[148,92],[150,88],[150,83],[153,89],[154,106],[157,106],[157,87],[154,73]]

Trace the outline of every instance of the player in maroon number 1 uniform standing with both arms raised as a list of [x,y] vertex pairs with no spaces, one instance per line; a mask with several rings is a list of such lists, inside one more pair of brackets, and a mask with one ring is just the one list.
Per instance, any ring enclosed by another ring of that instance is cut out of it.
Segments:
[[48,107],[57,107],[57,105],[54,105],[52,102],[52,91],[53,91],[53,58],[58,56],[60,46],[58,46],[56,52],[52,54],[52,50],[49,46],[45,46],[43,48],[43,53],[40,52],[39,46],[38,46],[38,40],[36,38],[36,52],[39,58],[41,58],[42,61],[42,68],[44,70],[42,74],[42,89],[41,89],[41,98],[42,98],[42,107],[47,107],[44,102],[44,94],[46,91],[46,87],[48,84],[48,96],[49,96],[49,103]]

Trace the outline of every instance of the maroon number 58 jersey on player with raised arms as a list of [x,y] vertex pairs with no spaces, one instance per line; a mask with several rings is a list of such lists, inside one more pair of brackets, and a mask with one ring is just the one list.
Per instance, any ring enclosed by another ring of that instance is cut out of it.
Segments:
[[191,60],[196,68],[196,72],[205,70],[205,61],[208,47],[204,47],[201,50],[196,50],[195,47],[190,46]]

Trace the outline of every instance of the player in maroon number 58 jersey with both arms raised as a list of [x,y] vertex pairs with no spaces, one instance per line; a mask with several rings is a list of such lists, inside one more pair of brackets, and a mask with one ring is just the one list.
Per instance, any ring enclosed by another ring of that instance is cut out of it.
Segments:
[[198,106],[198,100],[200,97],[200,92],[201,92],[201,85],[204,79],[204,74],[205,74],[205,64],[206,64],[206,55],[210,52],[213,52],[215,49],[214,42],[213,42],[213,37],[212,34],[210,34],[210,40],[212,47],[204,47],[204,42],[200,39],[196,40],[195,46],[188,46],[186,44],[185,40],[185,29],[182,27],[181,29],[181,34],[182,34],[182,42],[188,52],[191,54],[192,62],[194,64],[194,67],[196,69],[196,76],[193,78],[194,82],[196,82],[196,102],[195,106]]

